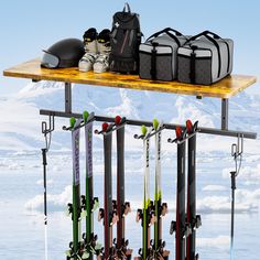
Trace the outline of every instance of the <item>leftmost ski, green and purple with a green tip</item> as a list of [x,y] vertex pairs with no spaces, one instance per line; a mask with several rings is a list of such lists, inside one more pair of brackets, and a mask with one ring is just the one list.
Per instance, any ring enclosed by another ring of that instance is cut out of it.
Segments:
[[66,251],[68,259],[86,259],[82,256],[80,242],[80,175],[79,175],[79,136],[82,119],[71,118],[72,150],[73,150],[73,203],[68,204],[68,214],[73,220],[73,241],[69,243],[69,250]]

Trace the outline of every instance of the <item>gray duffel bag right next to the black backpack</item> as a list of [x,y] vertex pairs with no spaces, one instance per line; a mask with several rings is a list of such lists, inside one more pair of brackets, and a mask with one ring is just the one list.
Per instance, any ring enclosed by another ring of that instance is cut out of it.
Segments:
[[139,46],[140,78],[166,82],[176,79],[177,48],[186,41],[187,37],[171,28],[151,35]]

